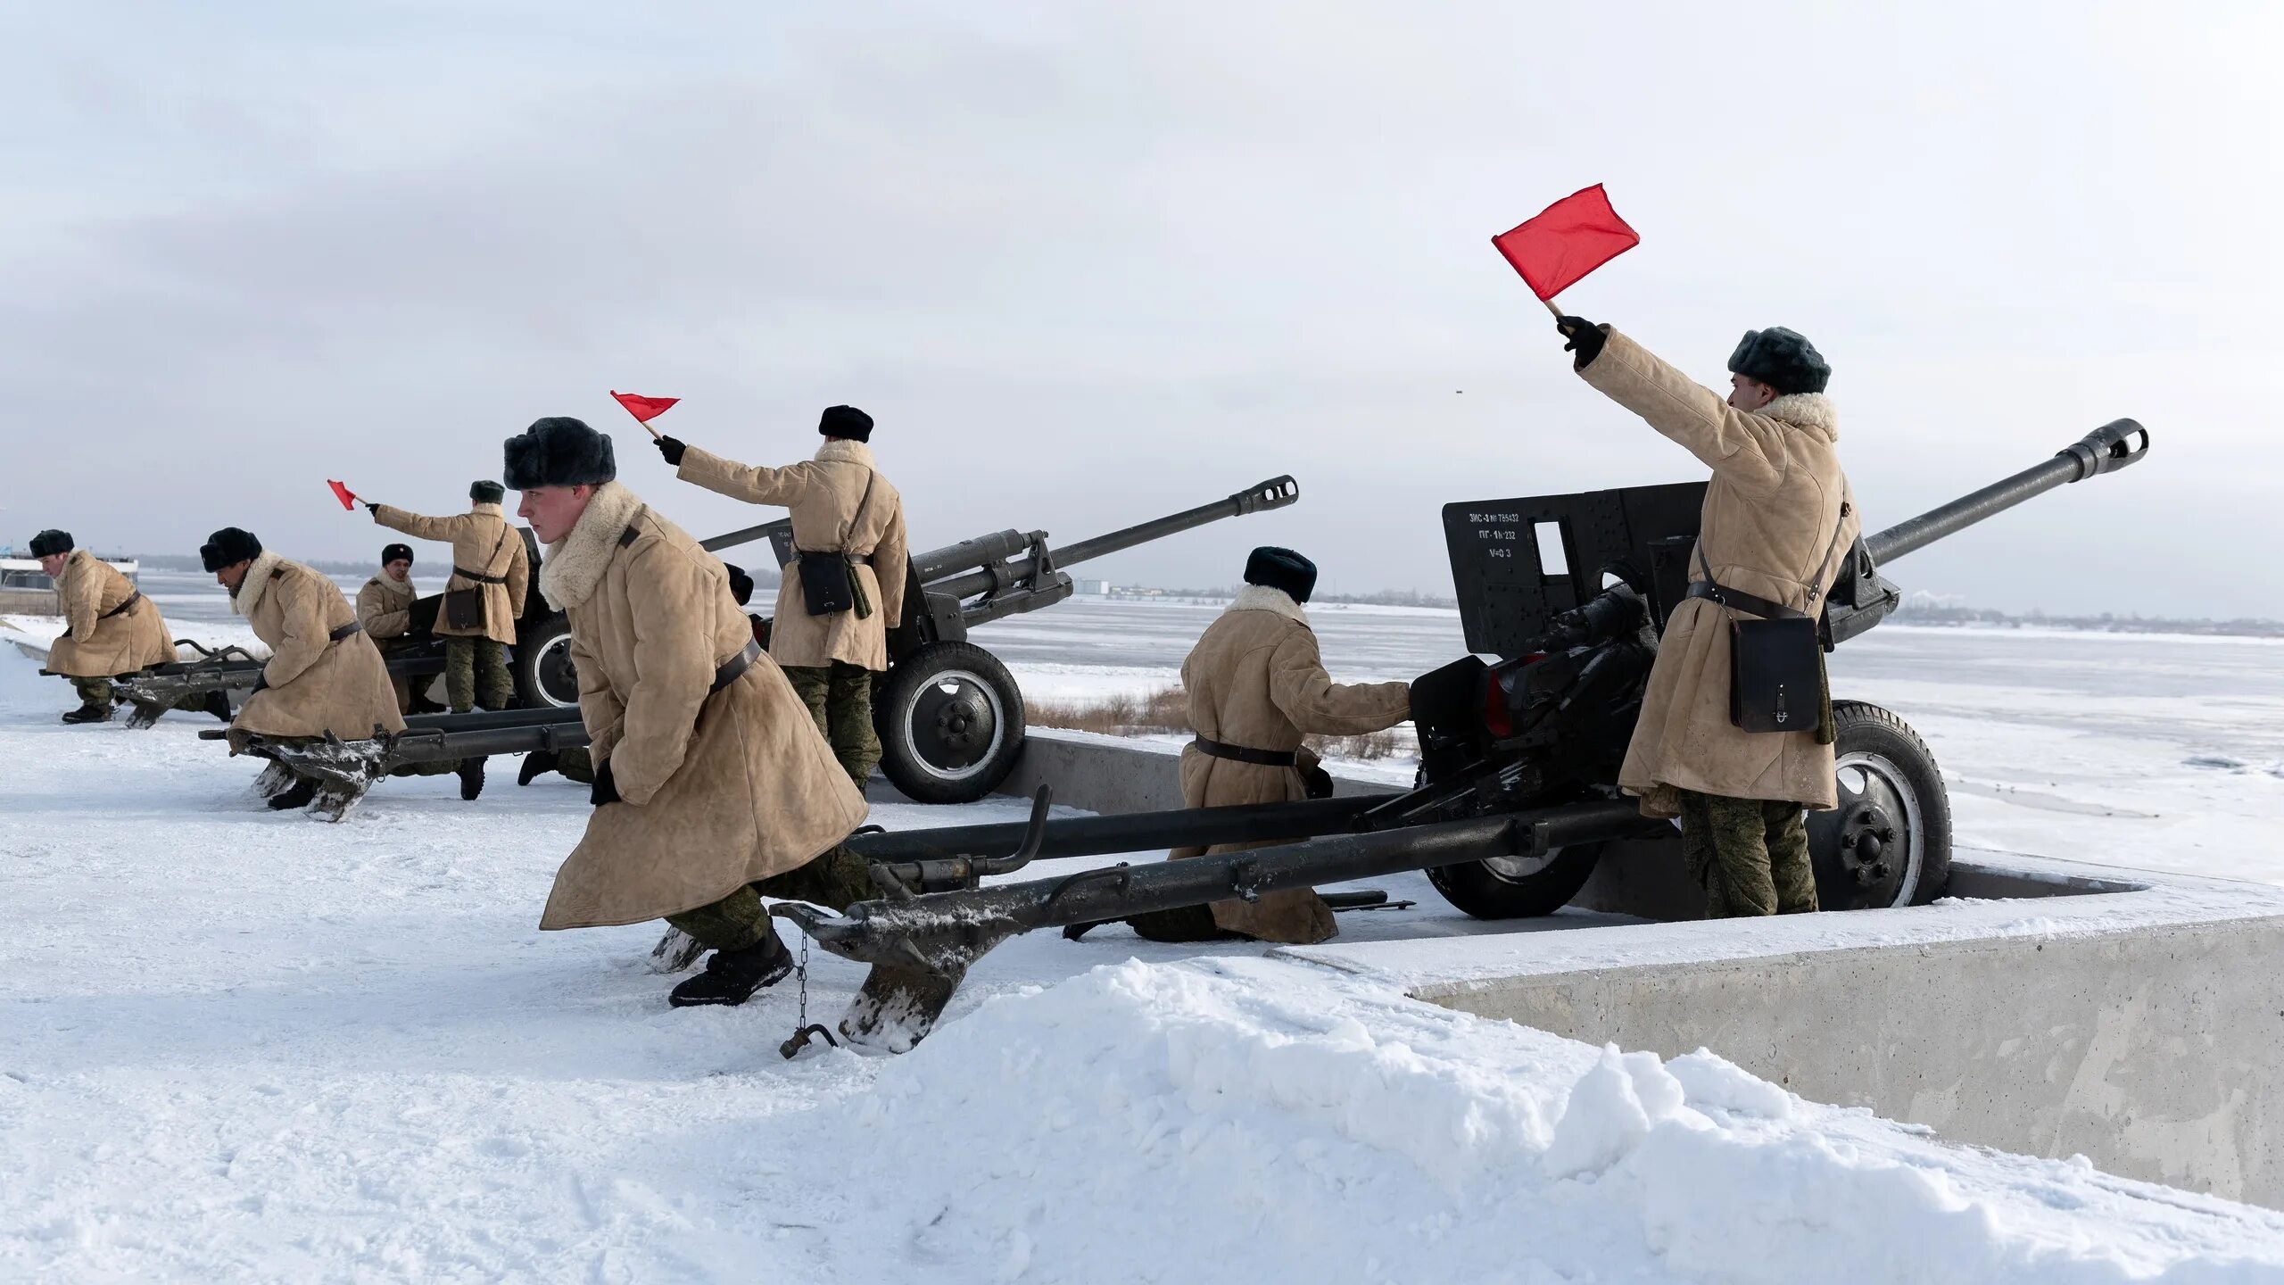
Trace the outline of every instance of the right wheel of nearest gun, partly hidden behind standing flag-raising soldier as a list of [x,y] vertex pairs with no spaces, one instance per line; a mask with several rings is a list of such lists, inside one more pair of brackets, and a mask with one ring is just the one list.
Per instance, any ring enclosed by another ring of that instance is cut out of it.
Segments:
[[1893,713],[1834,702],[1839,807],[1809,812],[1823,910],[1925,905],[1951,885],[1951,796],[1928,745]]

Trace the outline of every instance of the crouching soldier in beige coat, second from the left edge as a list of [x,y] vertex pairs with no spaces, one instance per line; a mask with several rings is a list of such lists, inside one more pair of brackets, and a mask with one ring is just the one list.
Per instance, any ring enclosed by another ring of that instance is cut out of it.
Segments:
[[[327,736],[370,741],[377,732],[402,732],[388,665],[356,624],[340,585],[301,562],[263,549],[251,530],[224,526],[199,546],[199,560],[222,588],[231,610],[270,647],[247,702],[231,723],[231,752],[254,736],[283,745],[308,745]],[[292,773],[292,787],[270,796],[270,807],[308,807],[320,782]],[[443,764],[450,771],[450,764]]]

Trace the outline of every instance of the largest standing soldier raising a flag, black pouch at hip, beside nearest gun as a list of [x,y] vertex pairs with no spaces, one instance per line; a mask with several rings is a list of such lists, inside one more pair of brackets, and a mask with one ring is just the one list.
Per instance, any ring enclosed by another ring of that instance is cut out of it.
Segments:
[[[1861,528],[1823,354],[1784,327],[1745,332],[1722,398],[1610,327],[1558,325],[1587,384],[1713,471],[1690,581],[1816,615]],[[1750,615],[1711,597],[1670,613],[1617,780],[1644,814],[1681,819],[1713,917],[1816,910],[1800,809],[1836,805],[1829,695],[1816,727],[1736,727],[1731,620]]]

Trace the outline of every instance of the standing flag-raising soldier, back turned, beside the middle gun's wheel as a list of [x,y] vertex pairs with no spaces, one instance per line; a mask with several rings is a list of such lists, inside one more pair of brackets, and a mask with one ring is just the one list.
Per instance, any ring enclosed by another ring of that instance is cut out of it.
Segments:
[[[738,464],[671,437],[658,439],[658,453],[685,482],[747,503],[786,505],[797,556],[777,588],[770,656],[863,789],[879,764],[872,675],[888,668],[888,629],[904,615],[904,498],[872,464],[872,416],[827,407],[818,432],[825,446],[815,460],[783,469]],[[811,558],[847,560],[856,599],[850,610],[809,613],[802,562]]]

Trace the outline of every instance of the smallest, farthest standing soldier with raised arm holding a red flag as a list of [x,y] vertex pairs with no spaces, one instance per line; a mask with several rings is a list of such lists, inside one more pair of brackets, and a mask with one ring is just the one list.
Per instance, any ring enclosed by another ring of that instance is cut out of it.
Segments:
[[[471,709],[507,709],[516,702],[516,681],[507,672],[507,649],[516,645],[516,617],[523,615],[523,592],[530,588],[530,558],[523,535],[500,512],[507,489],[500,482],[473,482],[468,512],[423,517],[393,505],[365,503],[372,521],[416,540],[452,544],[452,578],[443,583],[445,601],[432,633],[443,638],[443,691],[452,713]],[[471,592],[475,622],[450,620],[452,594]]]

